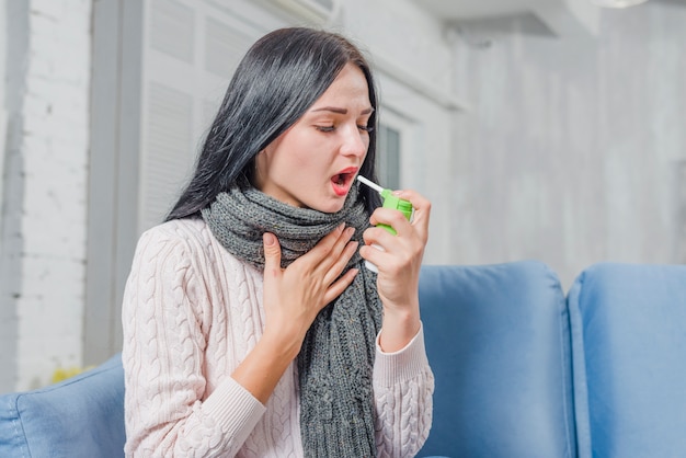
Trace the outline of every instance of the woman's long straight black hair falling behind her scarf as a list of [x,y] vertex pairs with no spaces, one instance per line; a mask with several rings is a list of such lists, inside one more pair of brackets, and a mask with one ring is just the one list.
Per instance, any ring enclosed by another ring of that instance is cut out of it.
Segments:
[[[260,38],[239,64],[205,138],[193,176],[167,220],[197,217],[217,195],[248,185],[254,157],[295,124],[324,93],[346,64],[367,80],[374,111],[369,148],[359,173],[376,181],[377,98],[366,59],[343,36],[306,27],[279,28]],[[365,205],[378,206],[378,193],[361,186]]]

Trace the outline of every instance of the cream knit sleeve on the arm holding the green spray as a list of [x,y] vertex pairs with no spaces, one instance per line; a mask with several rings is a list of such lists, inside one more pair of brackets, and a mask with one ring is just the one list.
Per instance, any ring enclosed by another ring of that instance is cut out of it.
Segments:
[[377,336],[374,365],[376,444],[379,457],[413,457],[424,445],[433,415],[434,376],[424,330],[402,350],[384,353]]

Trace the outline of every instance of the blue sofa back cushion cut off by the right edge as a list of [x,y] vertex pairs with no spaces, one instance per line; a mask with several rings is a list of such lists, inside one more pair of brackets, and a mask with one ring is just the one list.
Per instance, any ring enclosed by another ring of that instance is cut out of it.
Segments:
[[569,307],[580,458],[686,457],[686,266],[593,265]]

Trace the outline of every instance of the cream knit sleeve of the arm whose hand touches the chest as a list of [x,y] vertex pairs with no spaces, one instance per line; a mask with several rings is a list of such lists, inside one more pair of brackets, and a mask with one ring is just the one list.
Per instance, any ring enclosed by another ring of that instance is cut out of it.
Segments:
[[127,456],[235,456],[265,410],[228,375],[205,393],[211,305],[190,247],[153,228],[136,249],[122,309]]

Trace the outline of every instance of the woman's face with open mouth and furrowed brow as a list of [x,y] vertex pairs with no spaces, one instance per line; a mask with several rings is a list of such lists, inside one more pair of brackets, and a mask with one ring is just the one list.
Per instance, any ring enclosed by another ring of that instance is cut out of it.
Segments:
[[347,64],[329,89],[256,158],[255,186],[296,207],[343,207],[369,147],[373,107],[362,70]]

